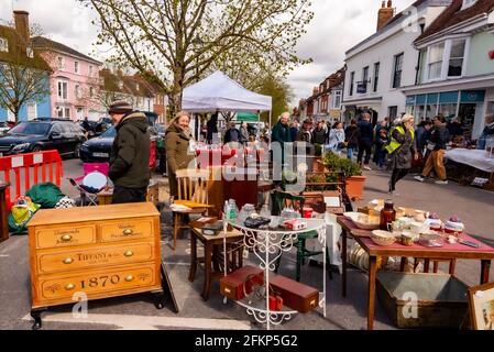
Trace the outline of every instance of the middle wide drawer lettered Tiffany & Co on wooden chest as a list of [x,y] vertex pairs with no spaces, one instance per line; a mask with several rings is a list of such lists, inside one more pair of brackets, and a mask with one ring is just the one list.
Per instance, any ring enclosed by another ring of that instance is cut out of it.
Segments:
[[129,243],[97,249],[39,254],[40,274],[61,273],[108,265],[124,265],[154,260],[153,243]]

